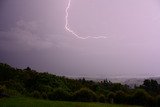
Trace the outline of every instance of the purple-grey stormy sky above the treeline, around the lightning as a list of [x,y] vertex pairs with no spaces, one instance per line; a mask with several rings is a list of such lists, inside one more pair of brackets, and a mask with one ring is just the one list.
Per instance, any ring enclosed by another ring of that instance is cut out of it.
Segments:
[[159,0],[0,0],[0,62],[73,77],[160,76]]

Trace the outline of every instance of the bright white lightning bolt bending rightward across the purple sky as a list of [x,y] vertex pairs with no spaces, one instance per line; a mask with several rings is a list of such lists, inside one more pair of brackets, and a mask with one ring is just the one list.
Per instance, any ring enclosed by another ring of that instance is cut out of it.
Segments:
[[107,38],[106,36],[87,36],[87,37],[81,37],[79,36],[77,33],[75,33],[72,29],[70,29],[69,27],[69,22],[68,22],[68,17],[69,17],[69,9],[71,6],[71,0],[68,1],[67,7],[66,7],[66,16],[65,16],[65,29],[70,32],[71,34],[73,34],[74,36],[76,36],[79,39],[88,39],[88,38],[94,38],[94,39],[100,39],[100,38]]

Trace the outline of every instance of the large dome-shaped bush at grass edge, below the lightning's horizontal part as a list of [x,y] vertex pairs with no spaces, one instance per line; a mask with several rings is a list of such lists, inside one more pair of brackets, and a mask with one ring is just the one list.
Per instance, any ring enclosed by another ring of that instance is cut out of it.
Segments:
[[97,96],[92,90],[88,88],[81,88],[73,94],[73,100],[82,102],[95,102],[97,101]]

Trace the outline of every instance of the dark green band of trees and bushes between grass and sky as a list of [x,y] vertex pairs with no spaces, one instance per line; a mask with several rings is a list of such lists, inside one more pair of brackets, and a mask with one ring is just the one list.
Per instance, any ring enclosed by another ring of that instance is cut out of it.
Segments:
[[0,98],[9,96],[160,107],[160,84],[145,80],[141,86],[131,88],[107,79],[100,82],[69,79],[0,63]]

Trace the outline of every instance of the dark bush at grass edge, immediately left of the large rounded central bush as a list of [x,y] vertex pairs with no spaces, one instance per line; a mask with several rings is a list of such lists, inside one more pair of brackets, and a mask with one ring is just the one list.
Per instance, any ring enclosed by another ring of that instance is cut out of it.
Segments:
[[63,89],[58,88],[53,92],[48,93],[48,98],[50,100],[67,101],[70,100],[70,94]]

